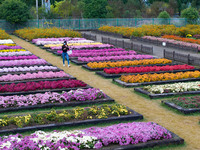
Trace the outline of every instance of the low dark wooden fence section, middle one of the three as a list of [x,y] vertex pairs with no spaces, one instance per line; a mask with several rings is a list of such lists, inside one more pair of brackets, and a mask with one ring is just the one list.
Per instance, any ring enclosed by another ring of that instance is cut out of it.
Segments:
[[118,39],[107,38],[107,37],[102,37],[101,41],[102,43],[112,44],[117,47],[132,49],[140,53],[153,55],[153,46],[149,47],[149,46],[144,46],[142,44],[134,44],[133,42],[125,42],[124,40],[118,40]]

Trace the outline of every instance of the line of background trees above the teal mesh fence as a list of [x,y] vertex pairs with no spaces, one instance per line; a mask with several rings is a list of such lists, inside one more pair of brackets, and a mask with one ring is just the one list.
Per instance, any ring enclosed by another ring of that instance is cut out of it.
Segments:
[[[181,13],[186,9],[192,9],[197,15],[193,18],[198,18],[200,12],[200,0],[50,0],[48,12],[41,1],[38,0],[40,19],[184,17]],[[0,9],[0,19],[12,23],[37,16],[36,0],[0,0]]]

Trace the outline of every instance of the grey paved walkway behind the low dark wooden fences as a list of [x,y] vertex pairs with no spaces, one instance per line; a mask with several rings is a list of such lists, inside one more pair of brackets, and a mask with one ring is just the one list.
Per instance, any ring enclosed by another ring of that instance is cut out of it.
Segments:
[[[98,42],[102,42],[101,38],[102,37],[112,37],[115,38],[114,36],[108,36],[108,35],[104,35],[104,34],[100,34],[100,33],[94,33],[93,31],[84,31],[82,33],[88,33],[88,34],[92,34],[92,35],[96,35],[97,36],[97,41]],[[130,39],[126,39],[126,38],[115,38],[115,39],[121,39],[124,40],[125,42],[133,42],[134,44],[142,44],[145,46],[153,46],[153,55],[158,56],[158,57],[163,57],[163,50],[166,49],[167,51],[178,51],[178,53],[182,53],[182,54],[190,54],[191,56],[195,56],[195,57],[199,57],[200,58],[200,53],[196,54],[193,52],[186,52],[186,51],[181,51],[178,49],[174,49],[174,48],[167,48],[167,47],[163,47],[163,46],[156,46],[153,44],[149,44],[149,43],[144,43],[144,42],[136,42],[136,41],[131,41]]]

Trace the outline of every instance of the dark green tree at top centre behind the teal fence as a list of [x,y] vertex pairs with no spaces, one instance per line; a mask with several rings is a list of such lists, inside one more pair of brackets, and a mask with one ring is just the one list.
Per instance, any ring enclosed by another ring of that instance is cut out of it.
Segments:
[[84,18],[105,18],[107,15],[107,0],[84,0]]

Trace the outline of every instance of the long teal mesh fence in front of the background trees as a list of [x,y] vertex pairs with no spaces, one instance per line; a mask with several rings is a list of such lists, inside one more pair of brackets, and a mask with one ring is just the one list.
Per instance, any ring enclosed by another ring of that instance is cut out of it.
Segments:
[[[173,24],[177,27],[187,25],[189,20],[185,18],[96,18],[96,19],[39,19],[28,20],[24,24],[10,24],[5,20],[0,20],[0,28],[6,31],[14,31],[25,27],[29,28],[49,28],[59,27],[73,30],[98,29],[103,25],[139,27],[143,24]],[[190,21],[191,22],[191,21]],[[195,22],[200,23],[200,20]]]

